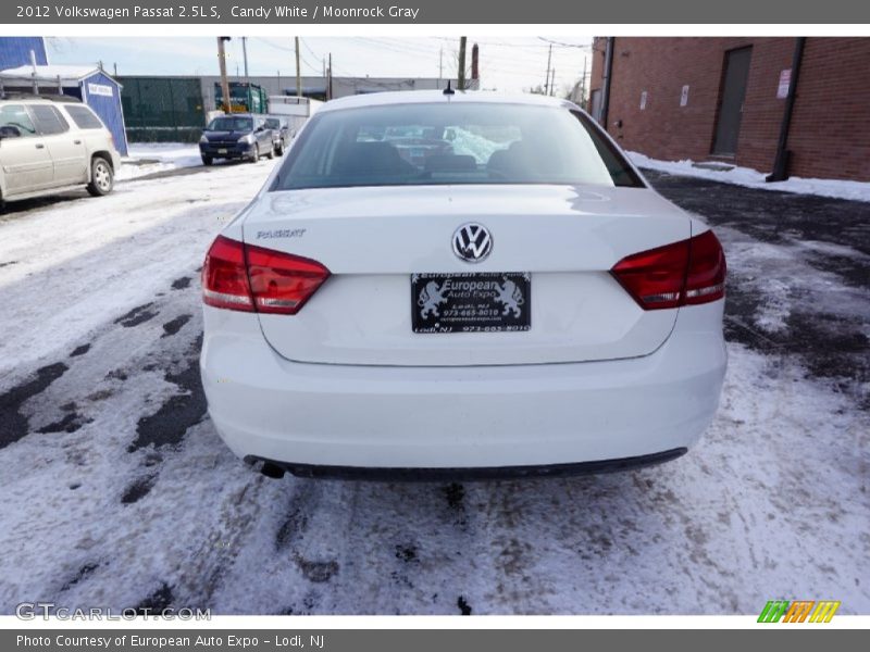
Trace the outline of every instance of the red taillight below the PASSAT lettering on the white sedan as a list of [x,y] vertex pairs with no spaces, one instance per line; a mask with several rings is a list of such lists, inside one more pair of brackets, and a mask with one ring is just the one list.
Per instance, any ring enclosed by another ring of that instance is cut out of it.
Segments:
[[219,236],[202,266],[202,300],[227,310],[295,315],[328,277],[316,261]]

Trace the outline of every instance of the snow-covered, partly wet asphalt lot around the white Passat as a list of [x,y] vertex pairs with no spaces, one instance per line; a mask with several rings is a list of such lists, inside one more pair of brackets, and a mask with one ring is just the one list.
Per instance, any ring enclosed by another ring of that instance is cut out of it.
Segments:
[[203,253],[274,164],[0,215],[0,612],[870,611],[869,204],[649,173],[730,272],[722,404],[675,462],[275,481],[221,442],[198,369]]

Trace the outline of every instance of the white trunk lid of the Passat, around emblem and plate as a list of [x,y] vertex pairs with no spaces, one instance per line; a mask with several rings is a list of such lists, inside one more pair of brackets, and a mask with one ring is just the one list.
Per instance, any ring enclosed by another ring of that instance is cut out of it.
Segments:
[[[484,225],[493,242],[476,264],[452,248],[455,233],[470,222]],[[646,355],[668,338],[678,310],[642,310],[610,269],[629,254],[684,240],[689,231],[689,218],[651,190],[571,186],[269,192],[244,222],[248,244],[311,259],[331,272],[298,314],[259,316],[270,344],[294,361],[358,365]],[[529,311],[527,330],[414,333],[414,311],[425,308],[420,275],[439,283],[445,275],[495,278],[505,288],[507,273],[531,284],[527,303],[519,306]]]

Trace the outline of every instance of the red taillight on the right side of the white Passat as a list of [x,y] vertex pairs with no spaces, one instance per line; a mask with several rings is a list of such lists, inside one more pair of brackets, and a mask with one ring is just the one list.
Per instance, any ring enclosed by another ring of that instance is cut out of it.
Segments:
[[711,230],[634,253],[611,273],[644,310],[708,303],[725,296],[725,255]]

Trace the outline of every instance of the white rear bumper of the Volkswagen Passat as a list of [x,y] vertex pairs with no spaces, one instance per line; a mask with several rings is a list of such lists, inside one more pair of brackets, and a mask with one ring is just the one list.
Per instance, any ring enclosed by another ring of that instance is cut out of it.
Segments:
[[477,367],[290,362],[256,315],[207,306],[202,381],[236,455],[303,475],[602,471],[682,451],[710,423],[726,364],[722,304],[682,309],[671,337],[643,358]]

